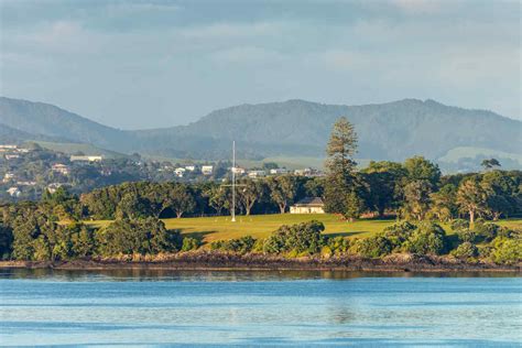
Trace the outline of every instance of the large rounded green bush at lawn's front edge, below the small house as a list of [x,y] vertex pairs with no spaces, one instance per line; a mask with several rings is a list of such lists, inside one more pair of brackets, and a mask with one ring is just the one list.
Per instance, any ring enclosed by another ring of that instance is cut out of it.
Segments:
[[325,239],[320,235],[325,226],[319,221],[281,226],[265,239],[263,251],[269,253],[293,252],[296,255],[314,254],[320,251]]

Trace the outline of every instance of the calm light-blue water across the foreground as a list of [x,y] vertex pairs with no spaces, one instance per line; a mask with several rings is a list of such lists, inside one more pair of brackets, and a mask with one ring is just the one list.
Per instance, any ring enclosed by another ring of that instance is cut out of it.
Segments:
[[521,346],[522,279],[0,271],[2,345]]

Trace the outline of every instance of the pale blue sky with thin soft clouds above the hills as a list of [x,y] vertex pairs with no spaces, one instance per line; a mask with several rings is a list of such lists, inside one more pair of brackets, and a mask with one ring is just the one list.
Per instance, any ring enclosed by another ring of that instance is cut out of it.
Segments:
[[522,120],[521,3],[0,0],[0,95],[121,129],[287,99]]

